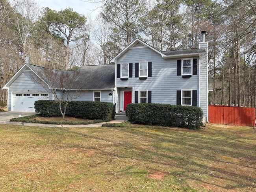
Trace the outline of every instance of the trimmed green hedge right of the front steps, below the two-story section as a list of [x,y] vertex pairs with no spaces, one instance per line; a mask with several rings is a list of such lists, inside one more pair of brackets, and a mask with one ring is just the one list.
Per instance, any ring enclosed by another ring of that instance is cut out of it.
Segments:
[[199,107],[156,103],[130,103],[126,115],[132,124],[198,129],[203,111]]

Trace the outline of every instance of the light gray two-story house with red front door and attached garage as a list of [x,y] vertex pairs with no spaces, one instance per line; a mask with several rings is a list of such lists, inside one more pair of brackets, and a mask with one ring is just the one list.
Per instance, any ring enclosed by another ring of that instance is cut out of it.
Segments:
[[[87,91],[76,100],[117,103],[117,112],[124,112],[128,103],[193,105],[202,108],[207,121],[208,42],[199,42],[197,49],[159,52],[135,39],[111,63],[82,67],[84,78],[92,79],[80,87]],[[31,78],[41,68],[25,64],[3,87],[9,111],[34,111],[35,100],[54,100]]]

